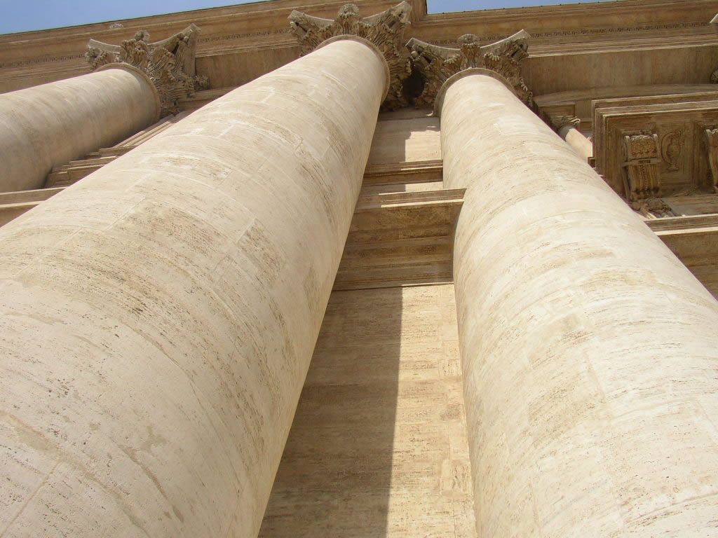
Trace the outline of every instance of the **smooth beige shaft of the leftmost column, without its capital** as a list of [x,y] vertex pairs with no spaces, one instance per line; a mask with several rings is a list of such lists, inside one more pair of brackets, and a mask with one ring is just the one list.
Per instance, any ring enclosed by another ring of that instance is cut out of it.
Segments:
[[53,166],[157,121],[149,79],[106,69],[0,94],[0,192],[37,189]]

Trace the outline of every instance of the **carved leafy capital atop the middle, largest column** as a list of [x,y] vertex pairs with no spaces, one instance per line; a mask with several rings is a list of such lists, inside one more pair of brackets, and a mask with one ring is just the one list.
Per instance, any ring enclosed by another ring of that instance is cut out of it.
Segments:
[[362,17],[355,4],[346,4],[337,18],[322,19],[294,10],[289,25],[299,39],[302,55],[309,54],[327,39],[340,35],[355,35],[373,43],[389,67],[389,90],[383,108],[394,110],[408,105],[402,87],[411,73],[409,52],[404,47],[404,30],[409,25],[411,6],[403,1],[382,13]]

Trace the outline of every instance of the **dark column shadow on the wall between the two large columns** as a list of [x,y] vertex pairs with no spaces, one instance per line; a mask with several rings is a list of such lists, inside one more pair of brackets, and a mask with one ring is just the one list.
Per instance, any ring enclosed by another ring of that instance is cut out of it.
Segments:
[[386,537],[401,303],[332,293],[260,538]]

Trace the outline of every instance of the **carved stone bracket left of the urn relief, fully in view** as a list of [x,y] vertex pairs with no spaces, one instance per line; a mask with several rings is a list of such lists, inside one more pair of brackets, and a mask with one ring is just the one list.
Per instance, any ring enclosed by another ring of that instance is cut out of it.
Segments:
[[658,135],[626,135],[623,137],[623,152],[626,169],[624,186],[628,201],[657,197],[661,191]]

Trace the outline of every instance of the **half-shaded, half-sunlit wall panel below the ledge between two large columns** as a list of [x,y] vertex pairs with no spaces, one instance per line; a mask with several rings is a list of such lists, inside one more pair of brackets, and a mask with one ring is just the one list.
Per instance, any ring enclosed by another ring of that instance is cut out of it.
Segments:
[[261,538],[475,538],[453,285],[335,291]]

